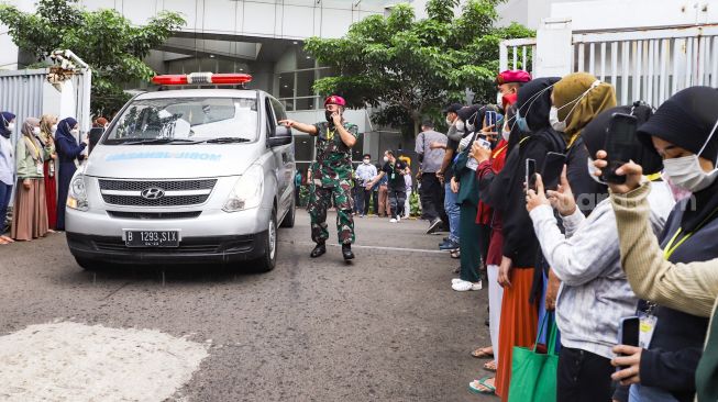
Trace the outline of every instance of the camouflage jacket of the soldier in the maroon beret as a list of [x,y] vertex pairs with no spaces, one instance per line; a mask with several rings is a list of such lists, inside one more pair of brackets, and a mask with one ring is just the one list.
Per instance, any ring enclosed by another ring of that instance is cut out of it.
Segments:
[[[356,124],[344,122],[344,129],[358,137]],[[312,169],[312,181],[320,187],[335,187],[341,181],[352,180],[352,148],[346,146],[336,130],[330,130],[328,122],[317,127],[317,161]]]

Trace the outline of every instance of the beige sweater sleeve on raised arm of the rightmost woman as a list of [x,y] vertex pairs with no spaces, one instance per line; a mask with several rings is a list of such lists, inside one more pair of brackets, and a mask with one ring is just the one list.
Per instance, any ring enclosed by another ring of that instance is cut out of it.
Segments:
[[718,259],[673,264],[663,258],[651,231],[645,182],[627,194],[611,194],[620,238],[621,265],[636,294],[644,300],[698,316],[718,308]]

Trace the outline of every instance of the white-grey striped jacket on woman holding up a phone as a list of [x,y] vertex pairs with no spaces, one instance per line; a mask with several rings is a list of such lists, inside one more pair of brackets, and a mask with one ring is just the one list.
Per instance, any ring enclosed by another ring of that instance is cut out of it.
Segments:
[[[660,233],[674,202],[665,185],[653,188],[649,196],[651,227]],[[588,217],[578,209],[563,216],[565,236],[551,206],[538,206],[530,215],[541,250],[562,281],[556,300],[561,344],[612,358],[619,321],[636,315],[638,298],[620,265],[610,200],[601,201]]]

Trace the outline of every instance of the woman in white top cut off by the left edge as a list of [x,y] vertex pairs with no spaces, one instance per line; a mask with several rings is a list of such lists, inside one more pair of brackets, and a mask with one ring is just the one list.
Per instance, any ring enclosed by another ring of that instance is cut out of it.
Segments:
[[15,148],[12,145],[12,132],[15,130],[15,115],[10,112],[0,113],[0,244],[12,243],[4,236],[8,205],[12,196],[12,185],[15,175]]

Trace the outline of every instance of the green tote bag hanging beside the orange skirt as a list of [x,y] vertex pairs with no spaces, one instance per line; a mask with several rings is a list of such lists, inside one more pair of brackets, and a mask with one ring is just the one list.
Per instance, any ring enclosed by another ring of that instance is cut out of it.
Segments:
[[[544,325],[553,314],[544,314],[538,336],[541,336]],[[556,323],[551,320],[551,336],[548,353],[537,353],[539,337],[533,348],[513,347],[511,361],[511,384],[509,386],[509,402],[553,402],[556,400]]]

